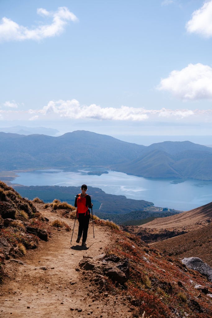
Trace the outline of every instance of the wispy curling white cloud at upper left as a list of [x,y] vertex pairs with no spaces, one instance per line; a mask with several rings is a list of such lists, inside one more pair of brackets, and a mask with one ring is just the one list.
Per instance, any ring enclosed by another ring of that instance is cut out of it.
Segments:
[[52,17],[52,23],[29,29],[7,17],[3,17],[2,23],[0,23],[0,41],[24,41],[29,39],[39,41],[61,34],[68,21],[78,21],[77,17],[66,7],[59,7],[56,12],[39,8],[37,13],[44,17]]

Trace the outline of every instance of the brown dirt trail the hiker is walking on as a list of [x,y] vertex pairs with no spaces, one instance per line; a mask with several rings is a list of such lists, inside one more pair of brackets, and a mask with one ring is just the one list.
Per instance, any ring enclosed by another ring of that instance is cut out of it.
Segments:
[[[55,218],[64,220],[51,211],[41,211],[41,206],[38,205],[38,210],[50,222]],[[65,222],[73,228],[74,220]],[[24,265],[7,261],[10,277],[1,286],[0,317],[132,317],[122,295],[100,294],[81,269],[76,271],[83,256],[94,257],[104,251],[111,243],[112,231],[94,225],[94,239],[90,224],[87,247],[82,247],[75,243],[77,230],[76,221],[73,246],[71,232],[52,227],[49,241],[40,241],[37,250],[28,251],[20,259]]]

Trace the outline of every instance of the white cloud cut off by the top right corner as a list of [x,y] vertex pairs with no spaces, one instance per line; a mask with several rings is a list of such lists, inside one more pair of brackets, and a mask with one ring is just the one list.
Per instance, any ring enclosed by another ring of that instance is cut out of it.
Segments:
[[200,9],[193,12],[186,29],[189,33],[198,33],[206,38],[212,36],[212,0],[205,1]]

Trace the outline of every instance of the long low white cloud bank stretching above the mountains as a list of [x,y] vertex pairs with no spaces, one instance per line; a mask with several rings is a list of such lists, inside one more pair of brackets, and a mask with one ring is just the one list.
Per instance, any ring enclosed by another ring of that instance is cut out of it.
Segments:
[[0,109],[0,119],[4,120],[45,120],[45,121],[122,121],[122,122],[150,122],[150,121],[187,121],[212,122],[212,109],[145,109],[142,107],[100,107],[96,104],[80,105],[78,100],[50,100],[41,109],[17,110]]

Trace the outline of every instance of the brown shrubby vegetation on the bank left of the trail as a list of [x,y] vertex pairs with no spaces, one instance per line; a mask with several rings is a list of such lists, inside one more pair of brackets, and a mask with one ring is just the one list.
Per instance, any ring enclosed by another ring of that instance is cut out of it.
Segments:
[[[8,255],[7,248],[0,245],[1,257],[7,259],[23,256],[27,249],[36,248],[39,239],[48,236],[46,227],[45,219],[33,203],[0,181],[0,239],[10,247]],[[3,276],[0,264],[0,281]]]

